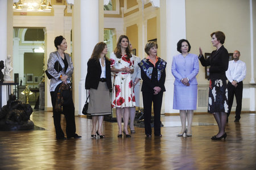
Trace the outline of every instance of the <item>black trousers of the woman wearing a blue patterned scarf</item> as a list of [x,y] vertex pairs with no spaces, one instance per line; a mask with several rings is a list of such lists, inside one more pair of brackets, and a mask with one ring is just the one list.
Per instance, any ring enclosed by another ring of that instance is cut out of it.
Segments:
[[151,135],[151,108],[152,102],[154,107],[154,134],[160,135],[161,130],[161,121],[160,114],[162,108],[162,100],[163,100],[163,92],[159,92],[159,94],[154,95],[147,92],[142,92],[143,97],[143,107],[144,107],[144,125],[145,125],[145,134]]

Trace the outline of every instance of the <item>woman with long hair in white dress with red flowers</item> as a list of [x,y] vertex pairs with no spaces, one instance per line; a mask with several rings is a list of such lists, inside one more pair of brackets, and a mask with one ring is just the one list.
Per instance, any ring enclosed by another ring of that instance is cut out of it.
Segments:
[[[135,107],[133,80],[131,79],[131,74],[134,72],[134,61],[131,57],[129,39],[127,36],[121,35],[114,53],[110,55],[111,71],[115,73],[112,107],[115,108],[115,113],[117,115],[117,137],[122,137],[122,131],[126,137],[131,137],[128,131],[130,107]],[[122,109],[124,109],[123,130]]]

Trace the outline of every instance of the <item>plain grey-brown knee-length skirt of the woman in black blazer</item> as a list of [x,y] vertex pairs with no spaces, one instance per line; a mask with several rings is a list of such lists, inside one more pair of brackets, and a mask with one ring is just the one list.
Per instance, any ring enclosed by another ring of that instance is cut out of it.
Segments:
[[104,116],[111,114],[110,93],[106,82],[100,82],[98,89],[90,88],[88,114]]

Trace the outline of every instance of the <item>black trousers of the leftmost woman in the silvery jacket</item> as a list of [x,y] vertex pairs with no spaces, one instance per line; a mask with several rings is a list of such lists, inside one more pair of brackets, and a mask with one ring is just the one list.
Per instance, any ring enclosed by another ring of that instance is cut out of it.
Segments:
[[[56,138],[64,138],[65,135],[61,129],[61,112],[56,112],[54,107],[56,104],[57,90],[59,86],[56,87],[55,91],[51,91],[52,108],[53,108],[53,121],[55,126]],[[69,105],[63,106],[63,114],[66,120],[66,134],[67,138],[75,137],[76,134],[76,123],[75,123],[75,106],[73,101]]]

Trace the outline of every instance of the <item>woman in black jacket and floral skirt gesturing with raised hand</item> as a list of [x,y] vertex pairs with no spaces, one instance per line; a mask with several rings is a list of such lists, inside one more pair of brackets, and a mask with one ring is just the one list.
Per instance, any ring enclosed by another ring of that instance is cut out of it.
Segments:
[[218,134],[212,137],[212,140],[220,140],[226,138],[225,126],[228,114],[228,88],[226,85],[225,71],[228,70],[229,54],[228,50],[222,44],[225,42],[225,35],[221,31],[216,31],[210,34],[212,44],[216,47],[210,57],[204,59],[201,47],[199,48],[199,60],[206,67],[210,66],[209,72],[209,102],[208,113],[212,113],[217,124]]

